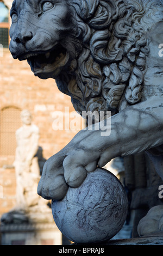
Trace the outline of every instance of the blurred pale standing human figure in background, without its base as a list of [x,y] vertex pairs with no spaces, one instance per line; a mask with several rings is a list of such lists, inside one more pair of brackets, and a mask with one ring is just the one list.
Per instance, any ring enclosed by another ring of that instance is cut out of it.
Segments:
[[22,209],[35,205],[39,197],[36,194],[40,180],[40,168],[36,156],[39,148],[39,127],[32,124],[32,115],[28,110],[21,112],[22,127],[16,131],[16,203]]

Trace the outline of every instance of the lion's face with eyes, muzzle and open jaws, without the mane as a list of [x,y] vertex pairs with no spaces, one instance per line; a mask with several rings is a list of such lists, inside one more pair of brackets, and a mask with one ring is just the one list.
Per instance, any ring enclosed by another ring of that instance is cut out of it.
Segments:
[[12,56],[27,59],[35,76],[58,77],[82,48],[71,14],[65,0],[15,0],[10,11]]

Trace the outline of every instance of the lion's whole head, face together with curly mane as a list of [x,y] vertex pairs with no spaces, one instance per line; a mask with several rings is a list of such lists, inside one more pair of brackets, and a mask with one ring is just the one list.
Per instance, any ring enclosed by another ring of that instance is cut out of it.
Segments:
[[[114,114],[122,99],[141,100],[148,19],[159,1],[15,0],[10,51],[27,59],[35,76],[54,78],[79,113]],[[153,7],[149,14],[146,5]]]

